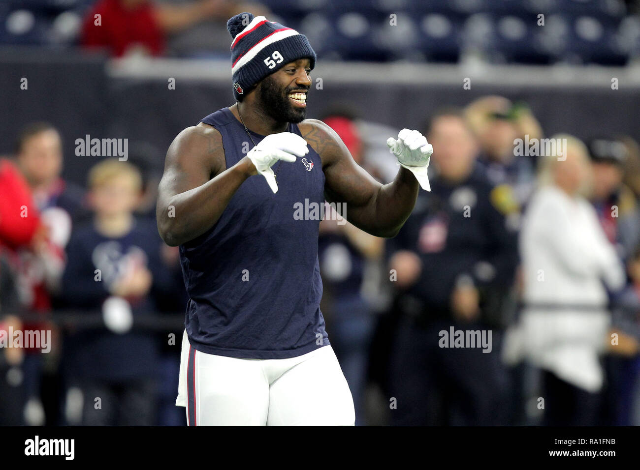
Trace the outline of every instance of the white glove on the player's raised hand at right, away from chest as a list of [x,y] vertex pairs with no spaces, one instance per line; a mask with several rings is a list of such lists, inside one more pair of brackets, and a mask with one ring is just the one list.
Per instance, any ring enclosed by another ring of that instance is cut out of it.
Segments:
[[417,130],[403,129],[398,133],[398,138],[387,139],[389,152],[396,155],[398,164],[413,173],[422,189],[431,191],[427,168],[429,159],[433,153],[433,146],[427,142]]

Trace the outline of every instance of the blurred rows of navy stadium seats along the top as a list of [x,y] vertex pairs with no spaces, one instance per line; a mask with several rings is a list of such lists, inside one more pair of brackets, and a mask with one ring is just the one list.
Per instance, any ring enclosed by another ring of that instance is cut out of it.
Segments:
[[[70,47],[93,0],[4,0],[0,44]],[[263,0],[321,58],[625,65],[640,18],[622,0]],[[544,26],[539,26],[539,15]],[[395,16],[392,16],[395,15]]]

